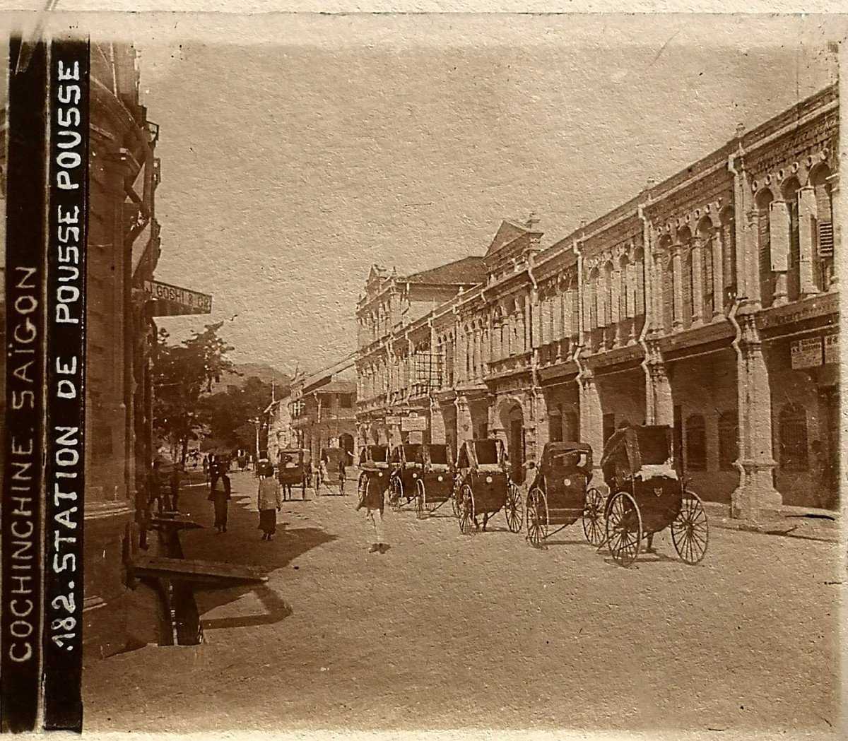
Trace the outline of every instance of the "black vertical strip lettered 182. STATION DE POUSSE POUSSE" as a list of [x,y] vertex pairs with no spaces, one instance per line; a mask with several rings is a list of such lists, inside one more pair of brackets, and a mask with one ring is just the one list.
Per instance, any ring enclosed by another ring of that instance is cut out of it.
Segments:
[[85,41],[50,46],[44,727],[82,730],[88,66]]

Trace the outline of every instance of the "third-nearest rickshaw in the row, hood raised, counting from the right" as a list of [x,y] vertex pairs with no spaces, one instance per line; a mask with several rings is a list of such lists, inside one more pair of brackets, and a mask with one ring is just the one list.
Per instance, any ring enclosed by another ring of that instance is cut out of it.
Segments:
[[471,532],[479,526],[477,517],[483,515],[483,530],[492,515],[505,511],[510,532],[520,532],[524,508],[518,487],[510,481],[506,448],[499,439],[466,440],[457,456],[456,500],[459,509],[460,532]]

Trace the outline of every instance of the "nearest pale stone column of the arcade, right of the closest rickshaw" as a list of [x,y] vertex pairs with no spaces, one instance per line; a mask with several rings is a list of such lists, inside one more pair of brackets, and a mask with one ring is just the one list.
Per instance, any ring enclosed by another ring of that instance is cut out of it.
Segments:
[[782,503],[774,488],[772,393],[753,314],[739,317],[737,394],[739,402],[739,487],[730,495],[731,516],[767,517]]

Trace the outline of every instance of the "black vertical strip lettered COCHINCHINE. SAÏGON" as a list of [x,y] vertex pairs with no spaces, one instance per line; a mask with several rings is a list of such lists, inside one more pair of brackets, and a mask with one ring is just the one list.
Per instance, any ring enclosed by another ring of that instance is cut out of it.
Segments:
[[[20,64],[19,64],[20,63]],[[42,670],[47,51],[9,42],[0,728],[36,727]]]

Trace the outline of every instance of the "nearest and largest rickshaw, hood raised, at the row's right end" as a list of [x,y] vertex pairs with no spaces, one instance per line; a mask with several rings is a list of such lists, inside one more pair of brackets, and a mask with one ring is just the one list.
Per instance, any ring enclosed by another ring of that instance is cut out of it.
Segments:
[[616,563],[633,564],[642,540],[667,527],[680,558],[700,563],[710,529],[703,503],[675,470],[670,426],[623,427],[607,441],[600,467],[610,487],[605,534]]

